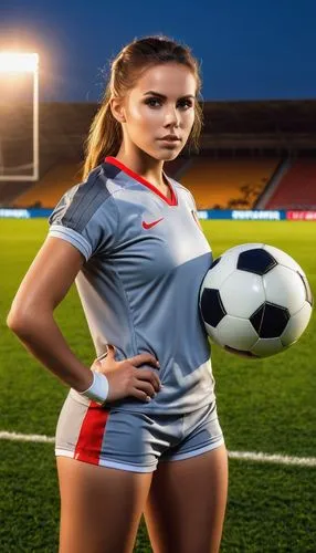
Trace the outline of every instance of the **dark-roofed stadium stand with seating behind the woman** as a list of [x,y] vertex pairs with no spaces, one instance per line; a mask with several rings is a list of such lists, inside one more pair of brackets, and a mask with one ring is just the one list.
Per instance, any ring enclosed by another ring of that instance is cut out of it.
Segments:
[[[41,103],[40,180],[0,182],[0,206],[51,208],[67,188],[80,182],[84,142],[98,108],[96,103]],[[165,166],[167,174],[192,190],[200,209],[270,208],[289,177],[297,177],[299,195],[297,185],[295,189],[289,184],[293,192],[277,205],[315,208],[307,185],[308,171],[315,178],[315,100],[206,102],[203,112],[199,156],[185,148],[181,158]],[[10,171],[30,160],[30,122],[27,106],[0,116],[1,155]],[[288,159],[291,164],[298,159],[296,177],[296,163],[287,171]]]

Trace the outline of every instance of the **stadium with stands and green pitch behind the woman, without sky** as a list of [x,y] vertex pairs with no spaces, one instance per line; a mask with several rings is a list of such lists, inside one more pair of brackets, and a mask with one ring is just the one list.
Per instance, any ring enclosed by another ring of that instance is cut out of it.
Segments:
[[[3,552],[53,552],[60,509],[54,430],[67,390],[27,355],[6,314],[46,236],[48,216],[81,181],[98,105],[40,103],[36,179],[32,106],[18,107],[0,105],[0,542]],[[245,242],[275,246],[301,264],[315,296],[316,101],[206,102],[203,113],[200,152],[183,152],[166,173],[194,196],[214,258]],[[17,173],[23,179],[14,179]],[[74,286],[56,320],[73,352],[91,364],[93,344]],[[298,343],[271,358],[245,361],[212,347],[230,455],[224,553],[315,552],[315,325],[313,315]],[[151,551],[144,521],[135,551]]]

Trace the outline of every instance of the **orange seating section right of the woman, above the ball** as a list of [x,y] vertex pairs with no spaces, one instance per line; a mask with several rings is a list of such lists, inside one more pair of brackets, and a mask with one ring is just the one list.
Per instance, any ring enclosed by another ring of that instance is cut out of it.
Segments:
[[181,182],[194,196],[198,209],[249,209],[265,188],[277,158],[197,158]]

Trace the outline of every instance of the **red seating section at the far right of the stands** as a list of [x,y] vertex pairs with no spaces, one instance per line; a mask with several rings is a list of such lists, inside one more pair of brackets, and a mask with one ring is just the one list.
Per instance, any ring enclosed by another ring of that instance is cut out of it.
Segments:
[[316,209],[316,161],[296,160],[281,179],[265,209]]

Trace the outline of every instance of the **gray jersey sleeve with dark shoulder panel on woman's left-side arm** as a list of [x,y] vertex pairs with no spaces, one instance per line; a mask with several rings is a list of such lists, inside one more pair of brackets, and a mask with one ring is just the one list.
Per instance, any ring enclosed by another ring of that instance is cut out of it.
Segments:
[[67,190],[49,218],[49,237],[61,238],[85,258],[109,254],[116,242],[118,209],[99,171]]

